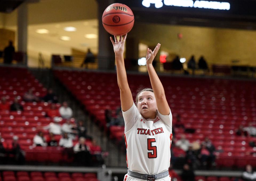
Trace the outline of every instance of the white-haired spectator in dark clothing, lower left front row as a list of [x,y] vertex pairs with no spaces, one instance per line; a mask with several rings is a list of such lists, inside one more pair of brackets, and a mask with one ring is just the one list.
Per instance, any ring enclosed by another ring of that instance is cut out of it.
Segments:
[[13,142],[11,144],[11,148],[10,148],[10,154],[14,154],[14,160],[18,163],[18,164],[22,164],[25,162],[25,157],[24,157],[24,153],[21,150],[21,147],[18,143],[18,136],[13,136]]

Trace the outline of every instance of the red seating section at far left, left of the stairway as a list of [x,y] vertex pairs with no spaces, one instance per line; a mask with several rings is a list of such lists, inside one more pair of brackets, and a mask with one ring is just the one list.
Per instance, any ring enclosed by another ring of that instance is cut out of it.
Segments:
[[[46,102],[24,102],[22,96],[29,89],[34,89],[38,97],[46,94],[47,89],[38,82],[37,79],[24,68],[0,68],[0,98],[5,96],[7,102],[11,104],[14,97],[19,97],[24,111],[0,111],[0,133],[2,141],[7,144],[7,149],[11,147],[13,136],[19,137],[21,149],[26,152],[26,161],[36,162],[71,162],[72,159],[62,154],[61,147],[33,147],[33,138],[38,133],[38,127],[46,126],[53,120],[45,117],[50,109],[50,104]],[[60,104],[56,104],[57,108]],[[60,124],[62,124],[60,122]],[[40,129],[45,133],[46,140],[49,138],[48,131]],[[61,136],[55,136],[58,142]],[[77,141],[74,142],[74,144]],[[92,149],[101,151],[99,146],[93,146],[91,141],[86,144]],[[96,147],[96,148],[95,148]],[[22,180],[23,181],[23,180]],[[25,181],[25,180],[24,180]]]

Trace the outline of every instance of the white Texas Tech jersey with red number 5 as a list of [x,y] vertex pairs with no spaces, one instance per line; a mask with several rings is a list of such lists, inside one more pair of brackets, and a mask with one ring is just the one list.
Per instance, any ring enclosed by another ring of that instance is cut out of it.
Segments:
[[172,115],[144,119],[133,106],[123,112],[125,120],[126,161],[129,170],[141,174],[156,175],[170,166],[172,139]]

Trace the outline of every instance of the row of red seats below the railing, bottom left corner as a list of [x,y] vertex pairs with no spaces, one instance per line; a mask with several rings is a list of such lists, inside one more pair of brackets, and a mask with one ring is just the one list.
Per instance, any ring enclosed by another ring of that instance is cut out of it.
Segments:
[[95,173],[2,171],[2,181],[98,181]]

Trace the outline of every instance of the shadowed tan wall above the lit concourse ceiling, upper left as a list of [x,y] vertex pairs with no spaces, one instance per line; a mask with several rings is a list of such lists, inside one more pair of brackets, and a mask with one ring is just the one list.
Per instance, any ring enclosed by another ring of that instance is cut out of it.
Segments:
[[[43,0],[28,5],[29,24],[95,19],[96,0]],[[17,9],[6,15],[6,26],[16,26]]]

